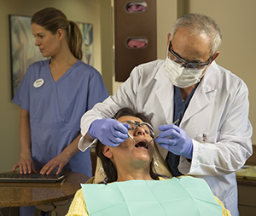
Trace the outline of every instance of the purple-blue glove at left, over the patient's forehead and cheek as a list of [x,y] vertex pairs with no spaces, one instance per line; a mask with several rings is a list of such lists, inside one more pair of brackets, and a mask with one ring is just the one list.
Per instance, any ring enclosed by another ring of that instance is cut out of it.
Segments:
[[94,139],[99,139],[104,145],[116,147],[128,138],[129,127],[129,124],[112,118],[96,119],[90,124],[88,134]]

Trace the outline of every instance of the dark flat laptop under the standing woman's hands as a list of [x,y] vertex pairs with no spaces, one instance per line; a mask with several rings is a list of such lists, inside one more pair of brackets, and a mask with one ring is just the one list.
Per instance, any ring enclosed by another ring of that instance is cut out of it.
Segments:
[[0,182],[40,182],[40,183],[56,183],[65,178],[65,173],[50,173],[40,174],[40,173],[30,173],[30,174],[20,174],[20,173],[0,173]]

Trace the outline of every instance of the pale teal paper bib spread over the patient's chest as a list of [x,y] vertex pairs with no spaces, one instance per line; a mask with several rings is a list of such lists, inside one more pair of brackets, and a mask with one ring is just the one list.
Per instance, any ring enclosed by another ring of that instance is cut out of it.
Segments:
[[82,185],[90,216],[222,215],[207,182],[192,177]]

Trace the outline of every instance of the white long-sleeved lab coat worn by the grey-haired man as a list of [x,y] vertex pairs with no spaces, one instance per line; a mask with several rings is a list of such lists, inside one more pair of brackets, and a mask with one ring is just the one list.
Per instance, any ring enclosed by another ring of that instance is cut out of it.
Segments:
[[[238,215],[234,172],[252,155],[253,129],[248,120],[247,97],[246,84],[213,61],[179,126],[194,145],[192,162],[181,156],[179,171],[205,179],[233,216]],[[166,77],[164,60],[134,68],[116,94],[84,114],[82,134],[86,134],[94,119],[113,117],[122,107],[146,112],[155,134],[160,133],[158,126],[173,122],[173,86]],[[160,146],[159,150],[166,158],[167,151]]]

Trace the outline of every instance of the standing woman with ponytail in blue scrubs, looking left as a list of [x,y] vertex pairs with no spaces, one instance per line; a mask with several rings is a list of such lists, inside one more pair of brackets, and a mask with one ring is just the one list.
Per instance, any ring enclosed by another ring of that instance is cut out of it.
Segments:
[[102,77],[81,61],[82,34],[59,9],[32,16],[32,34],[48,60],[26,71],[13,102],[20,105],[20,173],[62,169],[91,176],[90,151],[80,152],[79,122],[85,111],[108,97]]

